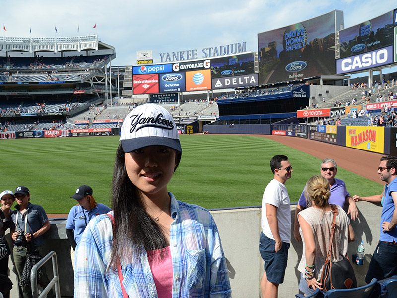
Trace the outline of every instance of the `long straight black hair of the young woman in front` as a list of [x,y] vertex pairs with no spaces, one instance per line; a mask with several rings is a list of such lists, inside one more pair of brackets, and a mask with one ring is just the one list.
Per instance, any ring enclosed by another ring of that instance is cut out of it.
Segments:
[[[115,218],[113,228],[113,247],[111,266],[116,267],[119,256],[138,256],[145,251],[167,247],[168,239],[161,226],[144,210],[143,202],[137,194],[136,186],[127,175],[124,151],[119,145],[116,152],[112,180],[112,208]],[[182,153],[176,151],[176,166],[181,161]]]

